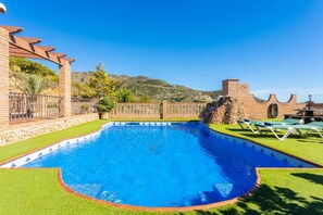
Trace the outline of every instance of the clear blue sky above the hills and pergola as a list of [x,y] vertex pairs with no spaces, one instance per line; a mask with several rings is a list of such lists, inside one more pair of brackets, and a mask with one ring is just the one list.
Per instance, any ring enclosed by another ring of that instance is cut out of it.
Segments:
[[[1,25],[42,38],[112,74],[146,75],[200,90],[238,78],[256,96],[323,102],[322,0],[1,1]],[[54,65],[50,65],[57,69]]]

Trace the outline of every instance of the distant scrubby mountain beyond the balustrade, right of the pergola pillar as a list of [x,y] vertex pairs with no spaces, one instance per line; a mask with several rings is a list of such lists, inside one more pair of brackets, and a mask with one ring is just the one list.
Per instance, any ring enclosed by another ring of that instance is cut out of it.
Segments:
[[[91,72],[73,72],[72,81],[85,83]],[[149,96],[151,101],[172,101],[172,102],[211,102],[215,100],[221,91],[200,91],[194,90],[182,85],[171,85],[161,79],[152,79],[146,76],[127,76],[109,74],[110,78],[119,79],[116,89],[127,88],[134,96]]]

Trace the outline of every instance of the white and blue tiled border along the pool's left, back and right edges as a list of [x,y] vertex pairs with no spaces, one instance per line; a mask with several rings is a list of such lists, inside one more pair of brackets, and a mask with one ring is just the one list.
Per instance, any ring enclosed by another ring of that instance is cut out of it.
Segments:
[[[61,142],[58,142],[55,144],[49,146],[47,148],[44,148],[39,151],[33,152],[30,154],[26,154],[22,157],[18,157],[14,161],[10,161],[8,163],[4,163],[0,166],[0,168],[15,168],[15,167],[20,167],[23,166],[40,156],[44,156],[46,154],[52,153],[55,150],[59,150],[60,148],[66,147],[66,146],[73,146],[73,144],[79,144],[79,143],[84,143],[85,141],[89,141],[89,140],[94,140],[96,138],[98,138],[98,136],[100,135],[100,132],[110,127],[110,126],[137,126],[137,125],[141,125],[141,126],[174,126],[174,125],[183,125],[183,124],[199,124],[201,126],[207,127],[208,129],[210,129],[208,126],[200,124],[200,123],[160,123],[160,122],[149,122],[149,123],[141,123],[141,122],[110,122],[105,125],[102,126],[102,129],[100,129],[99,131],[92,132],[90,135],[86,135],[83,137],[78,137],[78,138],[73,138],[70,140],[63,140]],[[285,155],[283,153],[279,153],[277,151],[271,150],[269,148],[262,147],[260,144],[253,143],[251,141],[248,140],[244,140],[240,138],[235,138],[232,136],[227,136],[227,135],[223,135],[220,132],[216,132],[214,130],[212,130],[212,135],[215,135],[215,137],[231,141],[231,142],[235,142],[235,143],[239,143],[239,144],[244,144],[246,147],[250,147],[253,150],[260,151],[261,153],[268,154],[270,156],[274,156],[277,160],[284,161],[288,164],[290,164],[294,167],[315,167],[314,165],[311,165],[309,163],[306,163],[303,161],[294,159],[291,156]]]

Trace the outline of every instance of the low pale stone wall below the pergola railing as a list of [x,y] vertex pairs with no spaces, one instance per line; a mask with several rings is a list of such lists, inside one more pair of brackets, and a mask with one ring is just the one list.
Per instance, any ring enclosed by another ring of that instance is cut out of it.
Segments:
[[98,119],[96,113],[11,125],[10,128],[0,131],[0,146],[62,130],[95,119]]

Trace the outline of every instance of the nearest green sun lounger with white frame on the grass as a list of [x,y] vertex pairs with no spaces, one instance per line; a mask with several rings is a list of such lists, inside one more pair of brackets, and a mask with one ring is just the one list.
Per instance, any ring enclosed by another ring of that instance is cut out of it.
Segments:
[[[285,140],[290,134],[299,134],[301,137],[307,136],[310,131],[315,131],[323,138],[323,135],[320,130],[323,129],[323,123],[313,122],[306,125],[275,125],[271,123],[256,124],[254,125],[258,132],[261,135],[266,135],[268,131],[271,131],[278,140]],[[266,130],[264,132],[264,129]],[[283,135],[278,135],[277,130],[286,130]],[[301,130],[306,130],[306,134],[302,134]]]

